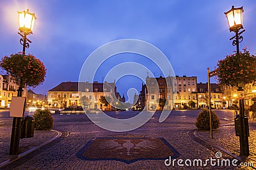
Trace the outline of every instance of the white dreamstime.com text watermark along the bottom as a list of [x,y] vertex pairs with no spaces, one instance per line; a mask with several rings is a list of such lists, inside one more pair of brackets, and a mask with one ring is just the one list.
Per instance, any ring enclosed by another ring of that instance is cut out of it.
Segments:
[[233,159],[233,160],[229,160],[229,159],[221,159],[222,157],[222,153],[221,152],[216,152],[215,154],[215,158],[210,158],[210,159],[206,159],[206,160],[202,160],[202,159],[173,159],[170,156],[169,159],[164,160],[164,164],[165,166],[200,166],[200,167],[204,167],[204,166],[221,166],[221,167],[230,167],[230,166],[234,166],[234,167],[246,167],[246,166],[251,166],[253,167],[253,162],[239,162],[239,160],[237,159]]

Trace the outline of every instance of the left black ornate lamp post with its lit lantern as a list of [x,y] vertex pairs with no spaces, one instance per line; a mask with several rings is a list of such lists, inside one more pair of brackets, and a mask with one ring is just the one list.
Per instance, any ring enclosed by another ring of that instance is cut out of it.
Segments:
[[[19,32],[18,34],[21,36],[20,44],[23,46],[22,55],[25,55],[25,49],[29,48],[29,43],[31,41],[27,38],[29,34],[33,33],[33,27],[35,24],[35,13],[29,13],[27,11],[18,11],[19,14]],[[22,97],[22,88],[24,86],[24,82],[20,79],[19,89],[17,97]],[[20,132],[22,127],[22,117],[13,117],[12,124],[12,136],[10,143],[10,155],[17,155],[19,153],[19,142],[20,142]]]

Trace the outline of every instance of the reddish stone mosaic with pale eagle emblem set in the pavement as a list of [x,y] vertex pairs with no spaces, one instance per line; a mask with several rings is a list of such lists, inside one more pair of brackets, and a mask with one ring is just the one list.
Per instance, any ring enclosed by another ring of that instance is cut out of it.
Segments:
[[179,155],[164,138],[96,138],[77,153],[83,160],[119,160],[126,164]]

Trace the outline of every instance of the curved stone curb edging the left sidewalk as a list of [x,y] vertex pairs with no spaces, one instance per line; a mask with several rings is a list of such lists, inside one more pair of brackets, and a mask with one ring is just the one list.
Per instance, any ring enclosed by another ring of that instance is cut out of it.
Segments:
[[57,132],[58,134],[57,134],[56,136],[54,136],[54,138],[51,138],[51,139],[49,139],[48,141],[45,141],[45,142],[42,143],[41,145],[35,146],[35,147],[33,147],[33,148],[27,150],[27,151],[24,152],[24,153],[20,153],[19,155],[17,155],[17,157],[15,157],[15,159],[9,159],[9,160],[4,161],[3,163],[0,164],[0,169],[1,169],[2,167],[4,167],[4,166],[7,166],[8,164],[11,164],[12,162],[15,162],[16,160],[19,160],[20,158],[22,158],[22,157],[28,155],[29,153],[31,153],[31,152],[37,150],[38,148],[41,148],[42,146],[47,145],[48,143],[51,143],[51,141],[54,141],[55,139],[60,138],[60,136],[61,136],[61,134],[62,134],[60,131],[55,131],[55,130],[51,130],[51,131]]

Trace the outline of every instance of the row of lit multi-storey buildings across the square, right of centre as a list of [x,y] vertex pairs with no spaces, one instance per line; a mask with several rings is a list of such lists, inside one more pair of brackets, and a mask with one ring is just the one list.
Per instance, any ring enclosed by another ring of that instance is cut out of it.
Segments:
[[[166,101],[164,109],[187,108],[189,101],[195,103],[195,108],[206,108],[208,105],[207,83],[197,83],[196,76],[168,76],[163,78],[146,78],[138,96],[138,108],[158,110],[159,99]],[[213,108],[222,108],[223,92],[216,83],[211,83],[211,104]],[[172,106],[173,101],[175,103]]]

